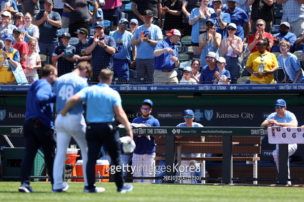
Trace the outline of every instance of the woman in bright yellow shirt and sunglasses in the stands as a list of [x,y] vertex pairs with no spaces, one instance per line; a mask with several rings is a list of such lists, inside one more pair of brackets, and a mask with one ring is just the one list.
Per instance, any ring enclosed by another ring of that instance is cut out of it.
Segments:
[[249,55],[246,64],[246,70],[251,74],[250,83],[275,83],[274,73],[279,65],[276,56],[266,50],[269,39],[259,39],[256,46],[258,51]]

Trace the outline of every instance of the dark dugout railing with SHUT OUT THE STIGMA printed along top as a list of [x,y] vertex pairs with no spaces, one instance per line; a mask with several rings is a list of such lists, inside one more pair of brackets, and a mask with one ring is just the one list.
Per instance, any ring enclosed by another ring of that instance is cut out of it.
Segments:
[[[232,183],[233,180],[240,180],[239,178],[233,178],[233,143],[232,136],[267,136],[267,128],[261,127],[192,127],[191,133],[188,133],[187,127],[143,127],[133,128],[134,135],[154,135],[154,136],[165,136],[165,157],[166,157],[166,168],[174,167],[176,150],[175,150],[175,136],[222,136],[222,177],[217,180],[221,180],[222,183]],[[177,132],[178,131],[178,132]],[[184,132],[185,131],[185,132]],[[120,129],[120,134],[124,134],[125,130]],[[22,137],[22,126],[0,126],[0,134],[10,136]],[[242,180],[250,181],[279,181],[280,184],[288,183],[288,144],[280,144],[279,151],[279,179],[271,178],[247,178]],[[258,171],[257,171],[258,172]],[[173,169],[171,171],[166,170],[167,182],[174,183],[176,177]],[[171,177],[168,177],[171,176]],[[3,179],[18,179],[16,176],[2,176]],[[34,179],[46,179],[48,176],[31,176]],[[80,179],[82,177],[67,177],[70,179]],[[108,177],[100,177],[106,179]],[[126,179],[134,179],[134,177],[126,177]],[[139,177],[138,179],[143,179]],[[151,178],[147,178],[151,179]],[[155,177],[153,179],[161,179]],[[172,180],[170,180],[172,179]],[[213,178],[204,178],[201,180],[208,180]],[[289,179],[289,181],[303,181],[302,179]]]

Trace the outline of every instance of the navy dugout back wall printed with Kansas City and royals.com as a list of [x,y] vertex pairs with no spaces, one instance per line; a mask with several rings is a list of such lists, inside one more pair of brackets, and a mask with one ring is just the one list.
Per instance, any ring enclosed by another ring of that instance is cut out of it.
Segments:
[[[179,123],[183,123],[182,113],[186,109],[191,109],[195,113],[194,122],[200,123],[203,126],[211,127],[259,127],[260,124],[275,110],[272,107],[244,107],[244,106],[230,106],[230,107],[153,107],[151,115],[157,118],[161,126],[176,126]],[[2,126],[22,126],[25,119],[25,107],[0,107],[0,125]],[[124,110],[128,116],[130,122],[133,119],[141,116],[140,106],[126,106]],[[287,107],[287,110],[295,114],[298,120],[298,125],[304,124],[304,117],[301,112],[304,111],[304,106]],[[54,119],[56,118],[56,113],[54,114]],[[10,135],[20,135],[20,130],[22,128],[13,129]],[[264,130],[254,131],[256,133],[261,133]],[[261,134],[264,135],[264,134]],[[15,142],[18,138],[13,138],[11,141]],[[20,137],[19,137],[20,138]],[[20,139],[18,140],[20,141]],[[1,146],[6,145],[6,140],[1,137]],[[19,145],[20,143],[15,143]],[[8,146],[8,145],[7,145]],[[22,145],[21,145],[22,146]],[[291,158],[304,160],[304,156],[301,153],[301,147],[304,149],[302,144],[298,145],[298,149]],[[275,149],[275,144],[268,143],[268,137],[263,137],[262,139],[262,151],[261,151],[261,161],[270,162],[273,161],[272,151]]]

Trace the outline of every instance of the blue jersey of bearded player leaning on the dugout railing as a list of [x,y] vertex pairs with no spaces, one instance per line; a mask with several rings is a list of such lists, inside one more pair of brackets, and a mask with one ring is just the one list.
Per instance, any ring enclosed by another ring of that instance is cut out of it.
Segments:
[[[147,127],[151,126],[160,126],[160,122],[154,118],[153,116],[149,116],[144,119],[142,116],[134,119],[132,123],[142,123]],[[134,149],[134,154],[137,155],[145,155],[145,154],[154,154],[155,153],[155,138],[150,136],[150,140],[144,135],[141,137],[134,136],[134,142],[136,144],[136,148]]]

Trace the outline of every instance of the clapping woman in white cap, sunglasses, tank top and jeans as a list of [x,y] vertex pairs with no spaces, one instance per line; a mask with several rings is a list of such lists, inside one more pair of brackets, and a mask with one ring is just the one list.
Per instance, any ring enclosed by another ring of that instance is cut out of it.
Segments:
[[230,23],[227,26],[229,37],[222,40],[220,55],[226,60],[225,69],[231,74],[231,83],[236,83],[237,79],[241,77],[242,61],[240,55],[243,51],[243,41],[236,36],[237,25]]

